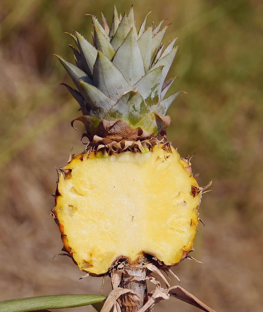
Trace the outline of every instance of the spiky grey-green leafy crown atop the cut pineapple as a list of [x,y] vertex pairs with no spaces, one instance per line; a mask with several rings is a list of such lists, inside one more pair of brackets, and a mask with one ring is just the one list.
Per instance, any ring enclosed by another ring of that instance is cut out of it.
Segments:
[[183,92],[164,99],[177,78],[165,81],[178,48],[174,47],[177,38],[165,49],[161,43],[169,25],[160,30],[161,21],[154,30],[152,24],[145,30],[145,17],[137,32],[133,7],[119,17],[114,6],[111,27],[103,14],[102,25],[90,16],[94,46],[74,32],[70,36],[77,49],[69,46],[76,66],[57,56],[78,89],[63,83],[83,114],[72,120],[72,126],[75,120],[82,121],[90,141],[95,135],[118,142],[166,134],[171,121],[166,111]]

